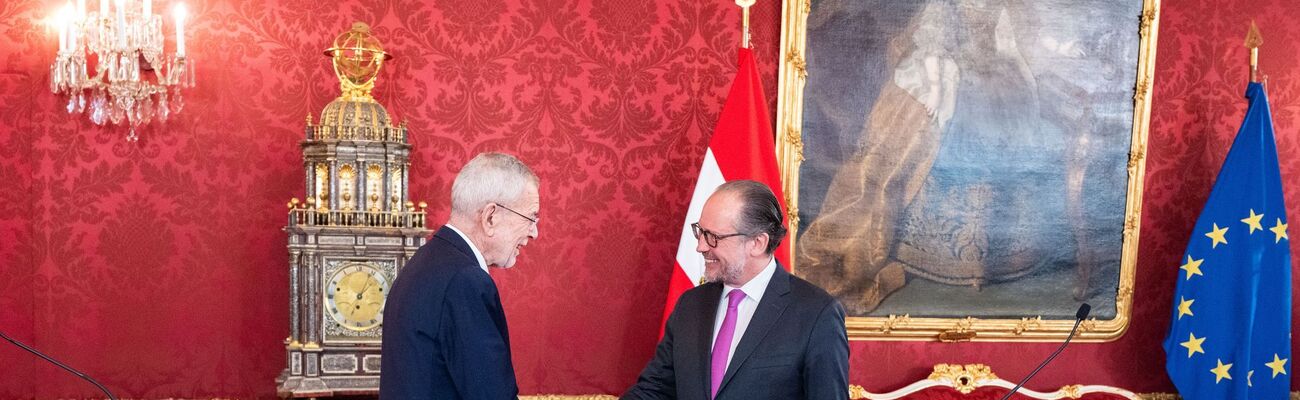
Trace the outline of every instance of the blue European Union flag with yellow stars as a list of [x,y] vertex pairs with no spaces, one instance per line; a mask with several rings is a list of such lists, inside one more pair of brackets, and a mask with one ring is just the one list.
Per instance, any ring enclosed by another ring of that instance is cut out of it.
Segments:
[[1178,269],[1165,370],[1183,399],[1287,399],[1291,252],[1264,87],[1223,161]]

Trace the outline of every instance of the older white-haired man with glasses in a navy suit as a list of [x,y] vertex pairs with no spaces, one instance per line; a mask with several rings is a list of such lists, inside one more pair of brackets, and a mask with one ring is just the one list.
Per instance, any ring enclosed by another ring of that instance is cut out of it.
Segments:
[[537,239],[538,179],[481,153],[451,184],[451,218],[398,273],[384,310],[382,399],[516,399],[510,332],[488,268]]

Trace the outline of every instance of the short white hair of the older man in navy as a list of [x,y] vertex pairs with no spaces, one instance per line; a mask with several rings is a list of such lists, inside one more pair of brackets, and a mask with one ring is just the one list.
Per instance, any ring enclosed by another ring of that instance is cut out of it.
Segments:
[[538,187],[538,179],[523,161],[506,153],[480,153],[451,183],[451,214],[472,217],[489,203],[517,200],[529,187]]

